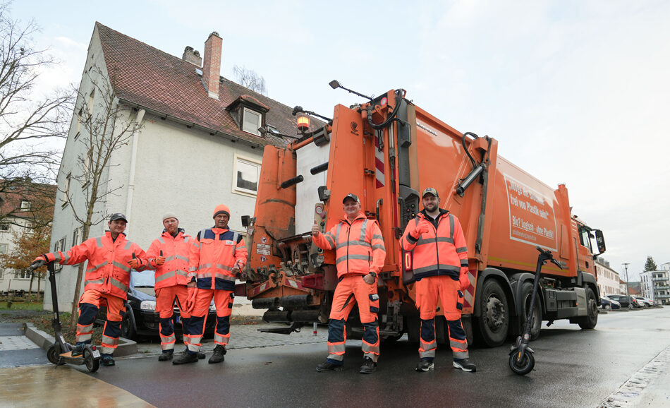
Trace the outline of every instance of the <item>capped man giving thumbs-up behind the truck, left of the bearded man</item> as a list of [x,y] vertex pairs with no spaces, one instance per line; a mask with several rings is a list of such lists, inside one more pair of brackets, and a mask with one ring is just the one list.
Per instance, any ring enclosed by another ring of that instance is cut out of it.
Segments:
[[347,194],[342,200],[345,217],[329,232],[312,226],[312,239],[319,248],[334,249],[338,284],[335,288],[328,325],[328,356],[317,371],[338,371],[344,362],[346,320],[358,303],[363,324],[363,366],[360,373],[377,370],[379,359],[379,295],[377,274],[384,266],[386,250],[377,220],[368,220],[360,212],[360,200]]

